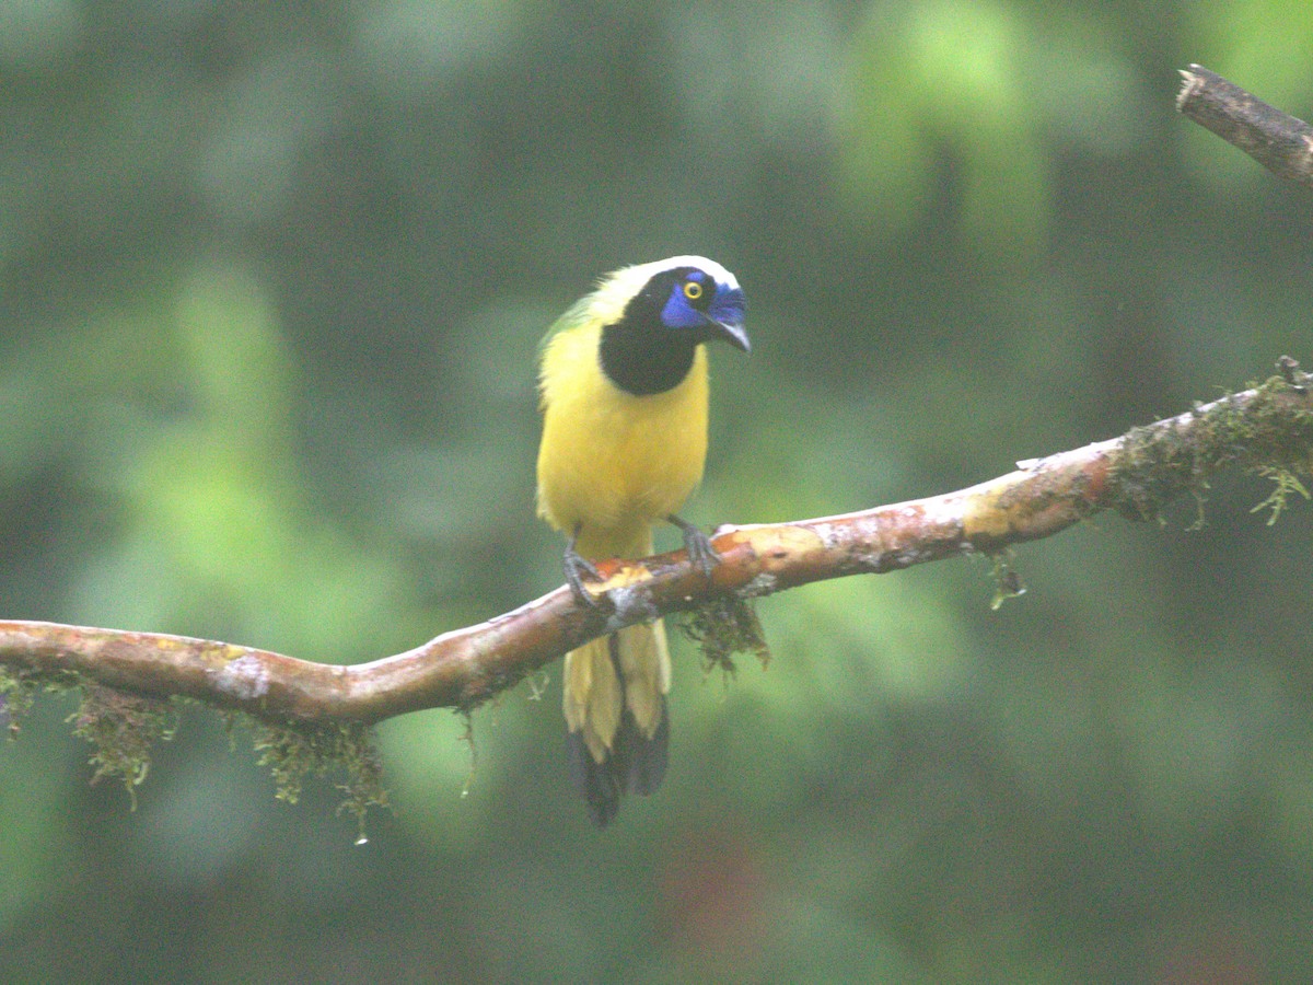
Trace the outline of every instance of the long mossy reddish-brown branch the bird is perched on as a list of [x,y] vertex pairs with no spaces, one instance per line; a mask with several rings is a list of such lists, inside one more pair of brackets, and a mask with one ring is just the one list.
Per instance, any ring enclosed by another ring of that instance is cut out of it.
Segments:
[[684,552],[601,562],[600,605],[558,588],[487,623],[351,667],[159,633],[0,621],[0,667],[143,696],[193,697],[267,722],[370,724],[424,708],[471,709],[587,640],[659,615],[886,573],[998,556],[1104,510],[1154,519],[1228,466],[1279,479],[1313,466],[1313,397],[1293,360],[1281,376],[1121,437],[1033,461],[956,492],[796,523],[722,527],[704,577]]

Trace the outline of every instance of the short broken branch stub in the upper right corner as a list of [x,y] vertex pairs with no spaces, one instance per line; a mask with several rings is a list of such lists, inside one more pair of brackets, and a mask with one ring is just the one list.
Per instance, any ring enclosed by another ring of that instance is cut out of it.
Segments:
[[1176,109],[1280,177],[1313,185],[1313,126],[1203,66],[1182,70]]

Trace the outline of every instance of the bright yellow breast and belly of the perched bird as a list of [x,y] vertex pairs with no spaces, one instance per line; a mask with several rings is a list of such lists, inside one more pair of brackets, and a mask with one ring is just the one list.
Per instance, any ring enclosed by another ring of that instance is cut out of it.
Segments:
[[706,353],[672,390],[634,397],[597,365],[600,327],[557,335],[542,360],[538,512],[584,557],[629,556],[684,504],[706,461]]

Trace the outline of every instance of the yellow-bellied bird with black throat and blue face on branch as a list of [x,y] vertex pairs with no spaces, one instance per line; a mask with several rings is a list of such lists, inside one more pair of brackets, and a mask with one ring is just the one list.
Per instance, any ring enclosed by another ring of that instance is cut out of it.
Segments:
[[[705,343],[747,353],[744,298],[714,260],[672,256],[604,276],[540,349],[537,511],[567,537],[575,598],[597,603],[592,561],[653,553],[653,528],[679,528],[689,559],[710,574],[718,556],[678,511],[706,461]],[[666,774],[670,654],[658,620],[593,640],[565,658],[570,777],[599,827],[625,793],[647,796]]]

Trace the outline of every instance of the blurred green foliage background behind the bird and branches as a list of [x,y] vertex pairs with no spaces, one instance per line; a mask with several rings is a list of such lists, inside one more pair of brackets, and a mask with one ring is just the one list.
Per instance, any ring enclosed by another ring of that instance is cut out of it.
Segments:
[[[1309,348],[1313,197],[1176,114],[1313,112],[1305,3],[0,0],[0,616],[360,662],[561,582],[533,360],[614,267],[743,282],[685,515],[928,495]],[[274,800],[181,712],[137,809],[72,697],[0,747],[4,981],[1313,976],[1309,536],[1258,478],[676,644],[593,830],[558,668]],[[667,544],[674,544],[668,541]],[[540,693],[541,692],[541,693]]]

